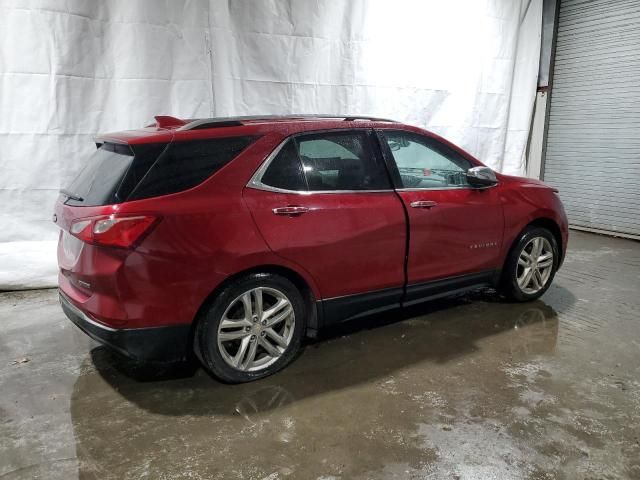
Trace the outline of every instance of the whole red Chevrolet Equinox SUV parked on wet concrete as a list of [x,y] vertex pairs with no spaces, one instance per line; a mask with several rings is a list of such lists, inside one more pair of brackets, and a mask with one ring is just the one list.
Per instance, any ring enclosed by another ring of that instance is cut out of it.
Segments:
[[156,117],[61,191],[60,302],[140,360],[193,352],[226,382],[305,335],[480,286],[526,301],[567,246],[557,191],[370,117]]

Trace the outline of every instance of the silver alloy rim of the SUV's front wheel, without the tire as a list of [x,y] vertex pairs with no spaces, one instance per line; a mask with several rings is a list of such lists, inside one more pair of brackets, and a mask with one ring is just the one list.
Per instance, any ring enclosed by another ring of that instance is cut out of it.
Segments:
[[526,294],[542,290],[553,271],[553,249],[544,237],[535,237],[527,242],[518,257],[516,278],[518,287]]

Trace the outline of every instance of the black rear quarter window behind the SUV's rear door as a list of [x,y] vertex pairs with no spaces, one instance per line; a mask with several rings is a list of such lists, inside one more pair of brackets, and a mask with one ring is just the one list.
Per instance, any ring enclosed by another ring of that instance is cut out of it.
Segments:
[[162,152],[129,200],[168,195],[195,187],[233,160],[254,137],[174,142]]

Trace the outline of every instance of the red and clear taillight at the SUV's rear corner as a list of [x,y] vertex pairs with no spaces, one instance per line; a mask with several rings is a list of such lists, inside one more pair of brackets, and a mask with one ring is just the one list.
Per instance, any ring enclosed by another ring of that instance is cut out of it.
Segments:
[[69,232],[80,240],[108,247],[130,248],[142,240],[158,222],[154,215],[106,215],[80,218]]

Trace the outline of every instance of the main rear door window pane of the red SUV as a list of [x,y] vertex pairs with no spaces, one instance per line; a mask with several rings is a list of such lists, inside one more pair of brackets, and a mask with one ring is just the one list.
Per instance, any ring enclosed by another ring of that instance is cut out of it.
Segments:
[[296,143],[311,191],[391,188],[366,132],[303,135]]

